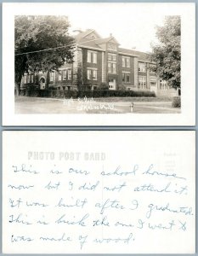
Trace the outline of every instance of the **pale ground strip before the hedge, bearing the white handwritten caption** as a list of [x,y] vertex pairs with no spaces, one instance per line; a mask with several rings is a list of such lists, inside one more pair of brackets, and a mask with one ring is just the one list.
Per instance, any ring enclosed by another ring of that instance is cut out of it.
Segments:
[[[133,103],[133,111],[131,105]],[[15,97],[15,113],[180,113],[169,98],[108,97],[94,99],[58,99]]]

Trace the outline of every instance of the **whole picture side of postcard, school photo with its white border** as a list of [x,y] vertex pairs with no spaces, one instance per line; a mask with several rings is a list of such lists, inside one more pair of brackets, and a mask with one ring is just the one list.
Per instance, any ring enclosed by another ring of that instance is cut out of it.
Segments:
[[195,125],[195,3],[3,3],[3,125]]

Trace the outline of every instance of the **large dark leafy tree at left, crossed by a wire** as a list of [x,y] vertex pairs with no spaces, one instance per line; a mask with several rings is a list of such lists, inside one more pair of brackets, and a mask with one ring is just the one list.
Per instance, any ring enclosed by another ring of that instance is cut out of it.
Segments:
[[[74,38],[68,34],[65,16],[15,16],[14,72],[15,85],[20,89],[24,73],[59,70],[65,61],[73,61]],[[33,53],[32,53],[33,52]]]

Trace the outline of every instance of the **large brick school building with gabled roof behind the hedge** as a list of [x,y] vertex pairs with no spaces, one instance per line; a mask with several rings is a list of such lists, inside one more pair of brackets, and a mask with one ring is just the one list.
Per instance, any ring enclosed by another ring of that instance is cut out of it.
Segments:
[[148,90],[156,96],[178,96],[178,90],[158,79],[152,71],[155,63],[150,55],[134,49],[123,49],[111,34],[101,38],[98,32],[88,29],[75,36],[74,61],[59,68],[59,72],[25,74],[21,89],[37,86],[57,90]]

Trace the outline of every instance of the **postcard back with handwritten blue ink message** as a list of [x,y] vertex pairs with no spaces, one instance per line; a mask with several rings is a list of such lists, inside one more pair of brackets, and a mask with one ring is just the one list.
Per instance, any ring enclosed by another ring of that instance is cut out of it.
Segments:
[[3,253],[195,253],[195,131],[3,131]]

